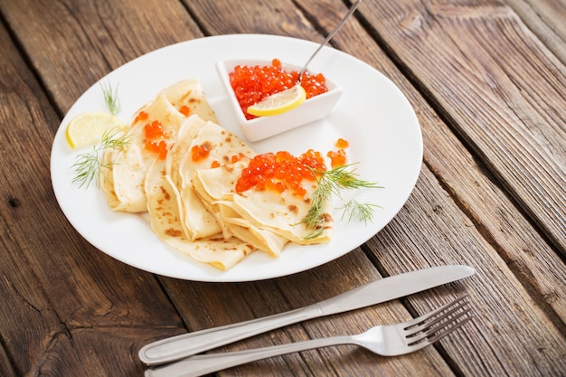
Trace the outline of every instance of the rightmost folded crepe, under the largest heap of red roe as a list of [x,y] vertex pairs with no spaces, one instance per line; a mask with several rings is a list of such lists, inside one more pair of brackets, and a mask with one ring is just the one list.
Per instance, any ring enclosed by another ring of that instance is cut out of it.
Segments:
[[289,241],[308,245],[330,240],[333,221],[329,203],[324,209],[325,229],[319,236],[309,237],[312,230],[303,223],[310,207],[308,198],[316,190],[316,183],[304,184],[307,193],[300,197],[289,190],[278,193],[250,189],[236,193],[235,182],[247,164],[248,161],[242,160],[233,165],[197,170],[193,176],[195,192],[216,214],[225,235],[236,235],[276,257]]

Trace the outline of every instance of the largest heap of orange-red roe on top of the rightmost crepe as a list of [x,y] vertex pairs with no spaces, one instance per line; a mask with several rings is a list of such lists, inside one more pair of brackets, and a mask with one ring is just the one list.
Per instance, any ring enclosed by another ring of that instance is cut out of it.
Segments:
[[315,181],[313,170],[325,171],[324,157],[320,152],[309,149],[301,156],[292,156],[289,152],[265,153],[254,156],[236,183],[236,192],[255,190],[273,190],[283,193],[290,190],[297,196],[307,193],[301,183]]

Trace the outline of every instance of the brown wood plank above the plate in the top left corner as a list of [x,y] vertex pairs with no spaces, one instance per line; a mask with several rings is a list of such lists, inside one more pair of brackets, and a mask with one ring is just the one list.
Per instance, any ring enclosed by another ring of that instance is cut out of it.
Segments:
[[49,5],[35,0],[2,1],[0,10],[62,114],[83,91],[125,62],[203,36],[175,0],[143,5],[137,1]]

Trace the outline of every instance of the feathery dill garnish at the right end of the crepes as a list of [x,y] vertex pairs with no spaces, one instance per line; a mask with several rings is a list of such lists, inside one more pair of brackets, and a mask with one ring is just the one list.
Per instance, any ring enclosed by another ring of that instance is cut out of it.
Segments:
[[[359,179],[355,169],[351,167],[352,165],[343,165],[332,170],[313,171],[316,176],[317,187],[310,197],[307,215],[301,221],[307,229],[312,230],[307,234],[306,239],[314,239],[325,231],[325,203],[330,200],[333,194],[340,196],[341,189],[381,188],[373,182]],[[378,206],[350,201],[342,209],[349,213],[350,220],[357,214],[362,221],[370,221],[375,207]]]

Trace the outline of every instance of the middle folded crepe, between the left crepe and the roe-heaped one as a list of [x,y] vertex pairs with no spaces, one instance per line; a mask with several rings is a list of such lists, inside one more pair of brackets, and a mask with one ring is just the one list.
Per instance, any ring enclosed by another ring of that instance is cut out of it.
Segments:
[[[222,233],[214,214],[194,193],[190,178],[197,169],[255,153],[240,138],[198,115],[187,118],[171,142],[165,160],[156,159],[146,173],[144,191],[151,229],[193,259],[230,269],[255,247]],[[193,147],[207,150],[208,155],[195,161]]]

